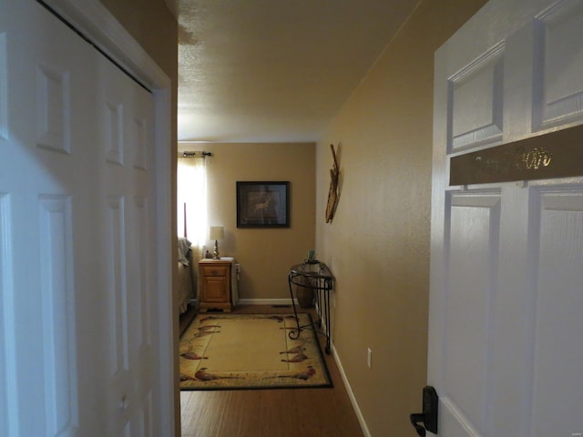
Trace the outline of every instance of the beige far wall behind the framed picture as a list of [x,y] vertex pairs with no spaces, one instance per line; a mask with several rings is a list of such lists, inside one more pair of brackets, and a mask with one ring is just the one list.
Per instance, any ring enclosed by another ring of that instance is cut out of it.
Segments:
[[[240,263],[240,298],[289,299],[290,266],[315,246],[315,145],[181,143],[179,150],[206,150],[210,225],[225,227],[221,256]],[[238,180],[290,181],[289,229],[238,229]],[[209,242],[210,245],[210,242]]]

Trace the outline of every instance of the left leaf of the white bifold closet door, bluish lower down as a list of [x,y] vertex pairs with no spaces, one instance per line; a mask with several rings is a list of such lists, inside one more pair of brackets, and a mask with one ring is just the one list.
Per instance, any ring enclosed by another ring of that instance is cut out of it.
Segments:
[[[76,256],[81,244],[75,241],[76,227],[87,219],[78,200],[87,188],[72,171],[83,168],[83,152],[74,142],[71,116],[74,111],[93,116],[83,91],[93,77],[92,60],[78,38],[59,44],[70,31],[55,26],[39,5],[3,2],[2,9],[11,11],[0,22],[9,83],[0,191],[7,194],[9,211],[6,294],[12,317],[6,321],[12,324],[8,344],[14,344],[8,362],[15,366],[8,369],[15,382],[5,435],[75,435],[83,352],[77,342],[77,291],[88,290],[79,287],[83,279],[75,265],[88,258]],[[41,38],[24,23],[43,23],[54,32]]]

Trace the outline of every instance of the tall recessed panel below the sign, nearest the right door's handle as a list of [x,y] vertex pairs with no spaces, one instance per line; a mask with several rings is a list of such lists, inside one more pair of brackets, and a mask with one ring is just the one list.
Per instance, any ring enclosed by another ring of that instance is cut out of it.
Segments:
[[496,292],[500,193],[450,193],[449,204],[443,380],[448,408],[469,426],[484,430],[490,370],[483,348],[490,340],[490,306]]

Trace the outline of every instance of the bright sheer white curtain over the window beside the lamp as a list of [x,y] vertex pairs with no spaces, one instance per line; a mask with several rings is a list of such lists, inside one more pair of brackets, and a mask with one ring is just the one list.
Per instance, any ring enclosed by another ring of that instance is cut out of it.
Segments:
[[180,157],[177,168],[179,237],[202,248],[208,231],[207,174],[204,157]]

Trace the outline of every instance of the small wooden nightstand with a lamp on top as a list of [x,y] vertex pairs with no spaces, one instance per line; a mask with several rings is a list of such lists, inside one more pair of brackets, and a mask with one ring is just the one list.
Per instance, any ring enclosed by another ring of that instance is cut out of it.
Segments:
[[201,259],[199,261],[199,310],[232,308],[232,259]]

